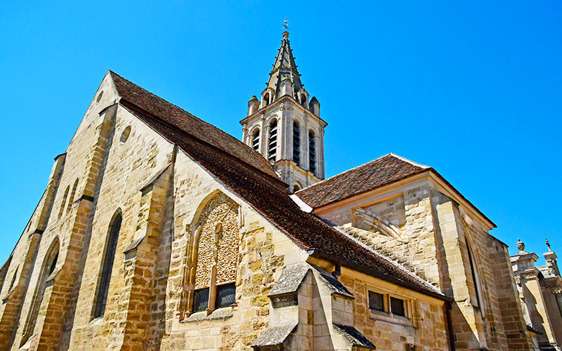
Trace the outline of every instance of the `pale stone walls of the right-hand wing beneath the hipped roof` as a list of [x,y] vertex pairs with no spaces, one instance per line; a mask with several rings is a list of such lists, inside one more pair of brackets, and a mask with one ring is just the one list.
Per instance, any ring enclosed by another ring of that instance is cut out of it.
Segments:
[[[322,218],[396,260],[447,296],[454,296],[451,314],[457,350],[507,350],[508,345],[513,350],[529,350],[525,348],[530,347],[530,338],[521,324],[521,311],[513,309],[512,297],[516,295],[511,284],[507,285],[509,277],[502,277],[503,272],[509,275],[507,248],[432,183],[418,181],[342,206],[329,206],[329,210],[320,210]],[[358,208],[367,216],[388,221],[403,237],[354,223]],[[479,280],[478,294],[467,242]],[[511,310],[502,309],[507,303]],[[515,322],[509,324],[509,320]]]

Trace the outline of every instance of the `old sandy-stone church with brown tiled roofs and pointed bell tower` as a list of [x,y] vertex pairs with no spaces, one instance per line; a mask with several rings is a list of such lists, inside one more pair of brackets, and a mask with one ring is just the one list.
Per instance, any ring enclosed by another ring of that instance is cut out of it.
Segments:
[[326,178],[288,32],[240,123],[108,71],[0,267],[0,351],[551,350],[495,224],[434,168]]

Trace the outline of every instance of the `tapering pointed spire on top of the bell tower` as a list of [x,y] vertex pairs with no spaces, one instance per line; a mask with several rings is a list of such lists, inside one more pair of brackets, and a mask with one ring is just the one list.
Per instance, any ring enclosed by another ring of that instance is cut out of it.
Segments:
[[275,58],[273,69],[269,74],[268,88],[273,88],[275,93],[279,93],[280,81],[289,78],[294,84],[294,91],[299,91],[303,84],[301,83],[301,74],[299,74],[296,67],[293,51],[289,43],[289,32],[285,31],[283,32],[283,40],[281,41],[277,58]]

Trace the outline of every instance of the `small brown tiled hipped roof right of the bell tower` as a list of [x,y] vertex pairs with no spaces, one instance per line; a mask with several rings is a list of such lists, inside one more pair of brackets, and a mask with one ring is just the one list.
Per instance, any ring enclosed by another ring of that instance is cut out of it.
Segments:
[[428,169],[431,168],[395,154],[386,154],[299,190],[296,195],[309,206],[317,208],[414,176]]

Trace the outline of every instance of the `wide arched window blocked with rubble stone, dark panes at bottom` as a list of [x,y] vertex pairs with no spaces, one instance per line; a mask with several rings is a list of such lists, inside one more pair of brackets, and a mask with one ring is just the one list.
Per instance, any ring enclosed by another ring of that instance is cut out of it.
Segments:
[[204,202],[192,234],[182,298],[184,317],[211,312],[236,300],[236,267],[240,246],[238,204],[218,192]]

